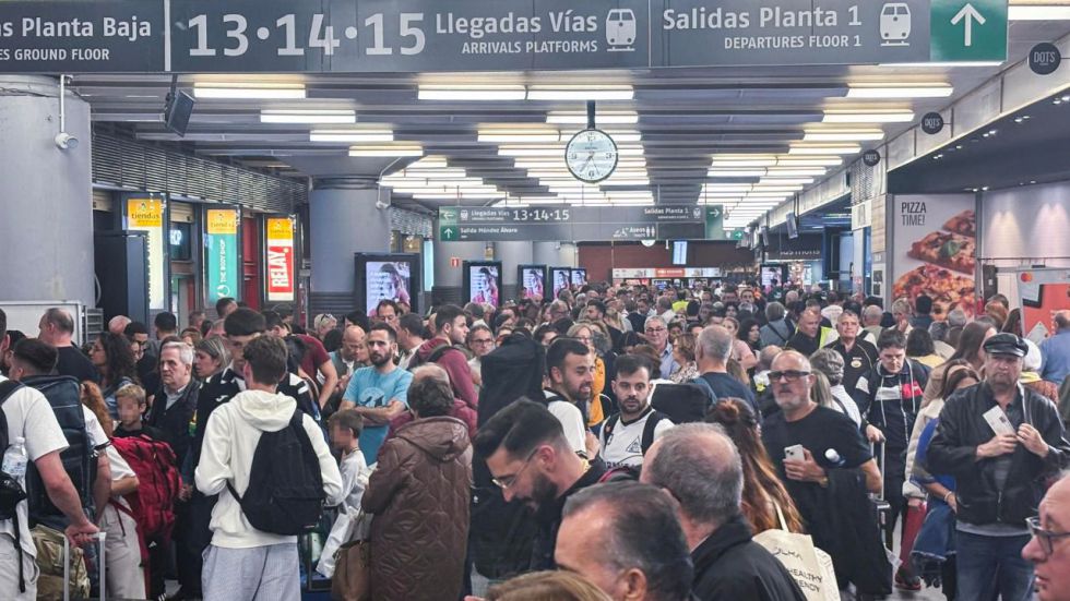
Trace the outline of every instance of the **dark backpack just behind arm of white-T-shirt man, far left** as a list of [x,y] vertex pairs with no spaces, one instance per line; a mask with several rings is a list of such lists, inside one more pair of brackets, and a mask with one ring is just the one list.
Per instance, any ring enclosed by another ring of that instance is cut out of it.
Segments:
[[[96,478],[96,452],[90,444],[88,432],[85,431],[82,387],[78,378],[70,375],[35,375],[24,378],[23,384],[45,395],[52,408],[56,421],[67,438],[67,448],[59,454],[63,470],[78,491],[86,515],[95,515],[93,481]],[[26,494],[29,496],[31,526],[44,524],[57,530],[68,526],[67,516],[48,497],[45,482],[33,462],[26,468]]]

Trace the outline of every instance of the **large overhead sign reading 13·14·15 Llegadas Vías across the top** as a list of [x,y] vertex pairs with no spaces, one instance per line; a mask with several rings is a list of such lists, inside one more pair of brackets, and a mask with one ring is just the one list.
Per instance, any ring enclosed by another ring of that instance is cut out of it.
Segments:
[[1007,56],[1007,1],[13,0],[0,2],[0,72],[990,61]]

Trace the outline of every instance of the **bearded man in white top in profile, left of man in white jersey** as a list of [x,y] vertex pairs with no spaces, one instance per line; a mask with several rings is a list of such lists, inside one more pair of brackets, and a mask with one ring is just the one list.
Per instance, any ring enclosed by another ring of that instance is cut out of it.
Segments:
[[561,422],[564,440],[575,453],[587,455],[583,410],[594,389],[594,353],[575,338],[557,338],[546,350],[549,388],[543,390],[546,407]]

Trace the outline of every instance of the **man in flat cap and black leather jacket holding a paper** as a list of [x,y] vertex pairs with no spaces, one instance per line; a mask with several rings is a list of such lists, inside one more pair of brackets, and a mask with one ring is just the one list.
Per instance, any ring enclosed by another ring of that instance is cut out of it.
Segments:
[[955,477],[960,599],[1024,599],[1033,567],[1022,558],[1025,520],[1045,480],[1070,465],[1070,443],[1050,399],[1019,384],[1029,351],[1013,334],[985,341],[985,381],[947,400],[928,470]]

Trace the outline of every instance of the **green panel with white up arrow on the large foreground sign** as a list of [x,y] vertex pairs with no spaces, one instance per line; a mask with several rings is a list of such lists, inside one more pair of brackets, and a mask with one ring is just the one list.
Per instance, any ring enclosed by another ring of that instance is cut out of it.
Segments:
[[931,0],[931,60],[1007,59],[1007,0]]

